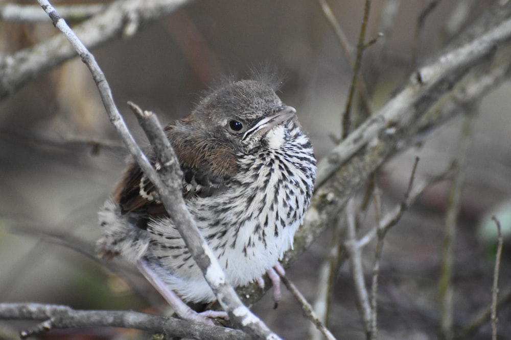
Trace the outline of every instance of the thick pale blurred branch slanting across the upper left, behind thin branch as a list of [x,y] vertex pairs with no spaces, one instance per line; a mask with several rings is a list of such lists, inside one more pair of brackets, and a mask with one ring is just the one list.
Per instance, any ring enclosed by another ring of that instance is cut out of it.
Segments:
[[[118,0],[73,30],[87,48],[131,37],[144,24],[174,12],[191,0]],[[76,57],[75,49],[58,34],[13,55],[0,55],[0,101],[35,77]]]

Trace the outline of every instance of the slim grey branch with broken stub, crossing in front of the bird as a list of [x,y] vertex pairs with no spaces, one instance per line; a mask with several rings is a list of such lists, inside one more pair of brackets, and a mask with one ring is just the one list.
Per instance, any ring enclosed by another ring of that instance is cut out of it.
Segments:
[[126,144],[131,155],[138,166],[144,171],[149,180],[159,193],[159,200],[165,206],[169,216],[175,221],[175,225],[183,238],[185,244],[198,267],[202,270],[204,278],[211,286],[222,308],[234,320],[235,324],[245,330],[247,333],[260,338],[277,339],[278,336],[257,318],[253,313],[243,305],[233,287],[227,282],[225,275],[218,263],[218,259],[207,246],[202,238],[192,216],[188,212],[184,199],[181,194],[182,173],[177,161],[177,156],[170,145],[169,140],[155,115],[150,112],[138,112],[137,118],[141,122],[147,137],[149,138],[157,159],[161,164],[159,174],[151,166],[147,156],[136,144],[129,133],[119,110],[115,106],[108,82],[103,71],[96,63],[94,56],[90,54],[80,39],[75,35],[65,21],[58,15],[55,9],[46,0],[38,0],[38,3],[52,19],[65,38],[76,49],[82,61],[89,68],[96,85],[98,86],[101,99],[107,111],[110,121]]

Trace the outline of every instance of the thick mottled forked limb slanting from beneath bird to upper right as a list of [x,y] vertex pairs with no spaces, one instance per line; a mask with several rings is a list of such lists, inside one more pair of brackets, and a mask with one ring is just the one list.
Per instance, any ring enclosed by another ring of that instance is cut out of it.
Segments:
[[[501,64],[487,74],[465,76],[474,66],[487,63],[496,46],[511,39],[509,16],[511,3],[483,14],[482,20],[469,29],[480,31],[479,35],[471,34],[472,39],[465,44],[453,42],[444,54],[417,69],[401,92],[318,161],[312,204],[295,233],[294,249],[284,254],[284,267],[289,267],[336,221],[347,200],[388,158],[424,140],[432,130],[464,112],[464,106],[508,79],[511,58],[502,58]],[[265,289],[271,287],[269,280],[265,282]],[[238,287],[237,291],[247,304],[259,301],[264,294],[255,283]]]

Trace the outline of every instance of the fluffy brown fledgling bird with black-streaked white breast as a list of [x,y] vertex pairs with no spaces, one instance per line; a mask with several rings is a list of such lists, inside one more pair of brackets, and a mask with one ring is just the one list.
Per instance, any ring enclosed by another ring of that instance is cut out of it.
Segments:
[[[261,285],[268,272],[275,289],[274,270],[283,274],[278,260],[292,248],[313,194],[312,143],[296,110],[275,91],[262,78],[229,80],[165,127],[183,173],[187,208],[234,286],[254,280]],[[158,161],[152,163],[158,170]],[[136,163],[124,170],[99,220],[100,257],[121,256],[136,265],[181,318],[208,323],[226,317],[186,305],[214,301],[215,295],[180,237],[178,222]]]

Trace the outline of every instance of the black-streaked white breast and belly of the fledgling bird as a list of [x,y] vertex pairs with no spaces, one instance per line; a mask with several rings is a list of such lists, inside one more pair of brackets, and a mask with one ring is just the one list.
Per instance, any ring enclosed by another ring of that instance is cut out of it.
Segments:
[[[261,276],[292,247],[312,197],[316,165],[308,138],[289,122],[266,139],[266,147],[240,155],[226,191],[187,203],[233,284]],[[152,221],[148,230],[163,266],[183,278],[202,276],[170,219]]]

